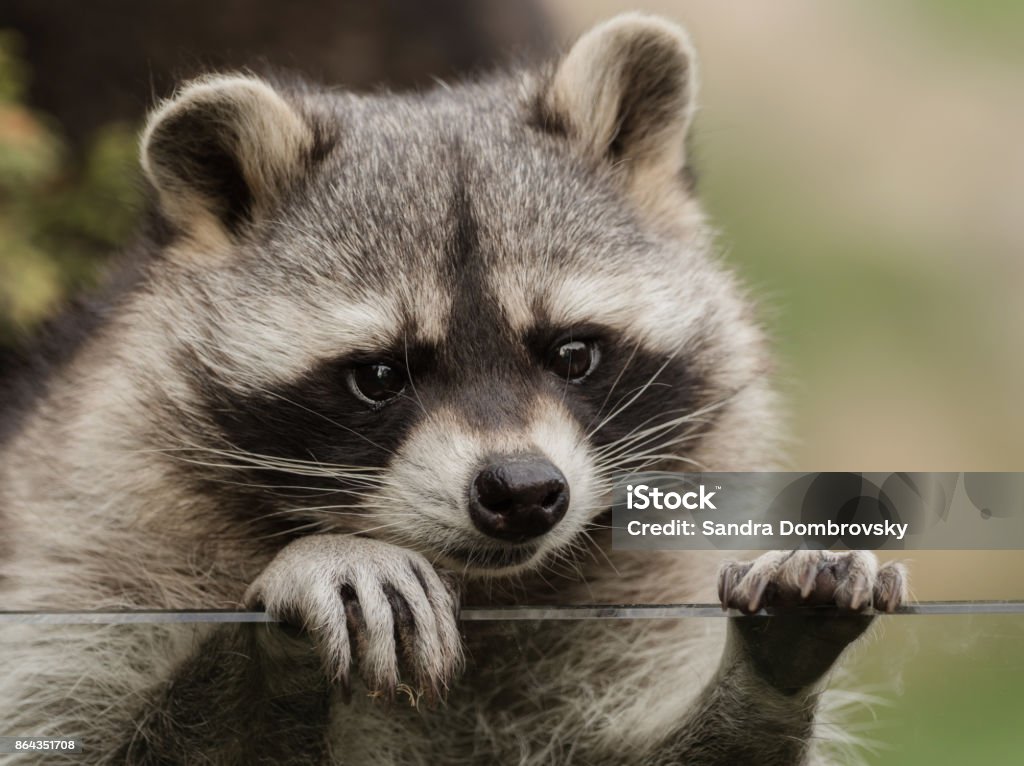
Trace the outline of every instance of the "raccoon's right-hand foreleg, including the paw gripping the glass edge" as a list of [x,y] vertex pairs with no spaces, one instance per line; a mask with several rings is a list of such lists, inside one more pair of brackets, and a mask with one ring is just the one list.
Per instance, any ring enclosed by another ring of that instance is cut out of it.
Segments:
[[[906,598],[901,565],[881,568],[869,553],[772,552],[721,571],[723,606],[770,616],[733,618],[716,677],[676,734],[638,759],[645,766],[804,762],[819,682],[870,625],[873,607]],[[848,613],[785,614],[797,604],[834,604]],[[637,762],[637,759],[634,760]]]

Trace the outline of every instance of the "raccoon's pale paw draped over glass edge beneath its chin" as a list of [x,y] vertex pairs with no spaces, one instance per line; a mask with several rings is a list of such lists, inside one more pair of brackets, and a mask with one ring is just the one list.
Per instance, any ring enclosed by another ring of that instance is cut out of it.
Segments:
[[387,543],[342,535],[297,540],[250,586],[246,603],[308,633],[346,697],[357,668],[375,696],[393,699],[401,688],[432,703],[462,665],[454,578]]

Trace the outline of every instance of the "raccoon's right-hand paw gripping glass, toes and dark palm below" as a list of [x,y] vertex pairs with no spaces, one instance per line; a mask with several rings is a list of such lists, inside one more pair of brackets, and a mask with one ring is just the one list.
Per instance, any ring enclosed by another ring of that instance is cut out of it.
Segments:
[[[907,599],[906,570],[879,566],[865,551],[773,551],[754,561],[730,561],[719,573],[723,607],[770,616],[729,621],[727,663],[737,659],[784,693],[817,682],[871,623],[873,608],[894,611]],[[800,605],[838,611],[787,612]]]

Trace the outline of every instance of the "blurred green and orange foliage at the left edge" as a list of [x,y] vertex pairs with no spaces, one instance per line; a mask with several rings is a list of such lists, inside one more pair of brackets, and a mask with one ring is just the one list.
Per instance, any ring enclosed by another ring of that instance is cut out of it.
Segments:
[[31,74],[18,50],[0,31],[0,343],[94,279],[140,198],[134,128],[104,127],[73,157],[59,128],[24,105]]

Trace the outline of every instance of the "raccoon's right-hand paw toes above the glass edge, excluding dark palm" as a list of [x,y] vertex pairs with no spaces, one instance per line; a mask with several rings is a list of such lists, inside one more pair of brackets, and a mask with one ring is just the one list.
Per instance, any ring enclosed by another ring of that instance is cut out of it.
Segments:
[[718,595],[723,607],[746,614],[802,604],[892,612],[906,600],[906,582],[902,564],[880,567],[866,551],[772,551],[754,561],[727,561]]

